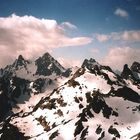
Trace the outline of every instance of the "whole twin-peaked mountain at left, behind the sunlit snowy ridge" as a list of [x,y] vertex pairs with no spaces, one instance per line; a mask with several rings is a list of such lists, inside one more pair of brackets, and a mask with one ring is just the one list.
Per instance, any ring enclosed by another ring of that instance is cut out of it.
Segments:
[[13,107],[20,110],[17,104],[28,101],[32,95],[57,88],[59,79],[70,73],[49,53],[35,61],[19,55],[13,64],[0,70],[0,120],[12,113]]

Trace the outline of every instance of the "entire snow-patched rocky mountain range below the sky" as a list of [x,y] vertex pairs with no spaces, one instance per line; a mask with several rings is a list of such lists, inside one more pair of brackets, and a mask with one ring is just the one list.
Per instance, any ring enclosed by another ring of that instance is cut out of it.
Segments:
[[0,69],[1,140],[140,140],[140,63],[120,75],[94,59],[64,68],[49,53]]

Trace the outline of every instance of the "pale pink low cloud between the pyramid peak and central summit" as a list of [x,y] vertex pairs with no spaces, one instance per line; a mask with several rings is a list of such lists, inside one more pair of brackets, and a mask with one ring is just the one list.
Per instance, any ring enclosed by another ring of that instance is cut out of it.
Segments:
[[67,59],[67,58],[63,58],[63,57],[59,57],[59,58],[57,58],[57,60],[65,68],[71,68],[71,67],[74,67],[74,66],[78,66],[78,67],[81,66],[81,61],[80,60]]

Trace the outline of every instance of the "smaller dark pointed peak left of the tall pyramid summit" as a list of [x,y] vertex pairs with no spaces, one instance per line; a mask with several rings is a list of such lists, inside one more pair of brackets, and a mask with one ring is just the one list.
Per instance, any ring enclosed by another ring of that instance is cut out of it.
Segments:
[[20,67],[20,66],[26,66],[27,64],[29,64],[29,61],[28,60],[25,60],[22,55],[19,55],[18,58],[13,63],[13,66],[16,69],[18,69],[18,67]]

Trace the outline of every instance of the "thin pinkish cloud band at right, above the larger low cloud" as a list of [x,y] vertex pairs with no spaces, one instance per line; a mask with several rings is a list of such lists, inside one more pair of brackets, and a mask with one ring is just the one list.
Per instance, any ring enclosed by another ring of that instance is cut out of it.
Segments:
[[95,38],[99,42],[106,42],[108,40],[140,42],[140,30],[131,30],[124,32],[113,32],[110,34],[96,34]]

